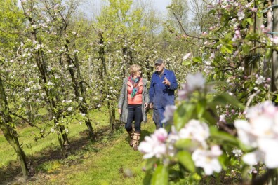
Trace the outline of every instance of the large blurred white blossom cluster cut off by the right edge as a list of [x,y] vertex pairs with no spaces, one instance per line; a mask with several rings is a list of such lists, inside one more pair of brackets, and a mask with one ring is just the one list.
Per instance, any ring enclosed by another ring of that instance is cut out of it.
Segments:
[[245,111],[249,120],[237,120],[239,139],[255,150],[243,156],[244,163],[265,163],[269,168],[278,167],[278,107],[266,101]]

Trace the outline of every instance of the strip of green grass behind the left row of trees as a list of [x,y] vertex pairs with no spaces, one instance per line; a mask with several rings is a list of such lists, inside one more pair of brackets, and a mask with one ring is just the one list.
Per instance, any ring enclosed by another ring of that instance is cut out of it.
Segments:
[[[99,130],[103,125],[108,125],[108,116],[105,112],[105,108],[98,110],[93,110],[90,113],[90,118],[92,120],[92,125],[95,130]],[[51,121],[49,124],[53,124]],[[40,128],[43,128],[44,125],[39,125]],[[74,137],[79,137],[79,132],[82,132],[87,129],[85,123],[79,124],[78,121],[68,125],[69,127],[69,139]],[[50,130],[51,126],[47,127],[46,130]],[[45,138],[39,139],[37,142],[34,140],[34,135],[32,132],[39,133],[37,128],[25,127],[23,129],[17,130],[18,140],[22,144],[22,149],[25,151],[27,156],[34,156],[34,153],[42,151],[48,147],[60,147],[58,144],[58,137],[55,134],[50,134]],[[12,160],[16,160],[17,156],[12,146],[8,144],[4,135],[0,132],[0,168],[6,167]]]

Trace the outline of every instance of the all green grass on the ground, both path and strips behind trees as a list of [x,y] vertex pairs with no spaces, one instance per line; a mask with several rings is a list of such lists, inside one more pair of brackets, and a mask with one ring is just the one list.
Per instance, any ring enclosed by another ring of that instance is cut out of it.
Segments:
[[[117,115],[118,116],[118,115]],[[154,124],[149,116],[149,123],[142,124],[141,139],[154,132]],[[92,111],[91,118],[97,123],[100,129],[108,124],[108,116],[105,111]],[[94,125],[95,127],[95,125]],[[20,142],[29,144],[30,149],[25,148],[28,155],[40,157],[39,151],[52,151],[59,149],[55,135],[50,135],[45,139],[34,142],[28,133],[33,128],[23,128],[20,130]],[[80,137],[79,132],[86,130],[85,125],[72,123],[69,125],[70,139]],[[0,155],[4,155],[4,149],[8,146],[3,136],[0,137]],[[5,146],[4,146],[5,145]],[[6,149],[8,153],[4,164],[10,160],[15,160],[15,154],[11,149]],[[105,132],[98,142],[86,142],[86,144],[73,151],[71,156],[65,159],[45,158],[43,163],[39,163],[36,174],[29,184],[143,184],[145,172],[143,172],[143,155],[139,151],[133,151],[128,144],[128,134],[121,126],[114,135]],[[11,165],[11,164],[10,164]],[[15,164],[13,164],[15,165]],[[17,179],[12,179],[11,184],[17,184]],[[0,183],[1,184],[1,183]],[[188,178],[170,184],[189,184]]]

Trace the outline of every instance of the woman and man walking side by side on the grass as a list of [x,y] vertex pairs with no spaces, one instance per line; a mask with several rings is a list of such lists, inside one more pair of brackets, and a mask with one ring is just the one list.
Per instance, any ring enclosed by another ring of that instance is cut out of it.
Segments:
[[131,65],[130,76],[124,78],[121,88],[118,111],[121,121],[126,123],[126,131],[131,137],[129,144],[134,150],[138,150],[141,122],[147,122],[148,105],[153,109],[156,128],[163,127],[165,107],[174,104],[174,91],[178,88],[175,74],[165,69],[163,60],[157,60],[154,65],[156,71],[152,74],[150,90],[147,90],[147,79],[142,78],[141,67],[137,64]]

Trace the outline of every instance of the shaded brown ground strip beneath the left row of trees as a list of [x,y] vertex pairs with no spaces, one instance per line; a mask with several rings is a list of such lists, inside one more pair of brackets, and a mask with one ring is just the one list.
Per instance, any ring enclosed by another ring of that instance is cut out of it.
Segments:
[[[115,132],[121,130],[121,128],[122,124],[115,123]],[[105,141],[107,142],[107,139],[113,137],[110,126],[104,126],[95,132],[95,142],[90,141],[87,130],[79,132],[79,135],[79,138],[74,138],[70,141],[71,155],[68,158],[62,158],[60,146],[50,146],[44,149],[44,151],[35,153],[34,156],[28,156],[29,161],[32,161],[36,169],[36,174],[30,179],[30,182],[32,183],[32,181],[37,181],[38,179],[40,181],[41,179],[47,180],[49,178],[48,174],[59,173],[59,170],[47,170],[47,163],[53,163],[53,165],[57,163],[65,165],[66,163],[67,166],[81,163],[83,153],[86,151],[98,152],[98,148],[105,146]],[[72,156],[74,157],[72,158]],[[46,170],[44,168],[46,168]],[[0,179],[0,184],[26,184],[22,178],[22,171],[19,163],[14,160],[11,161],[7,167],[0,168]]]

